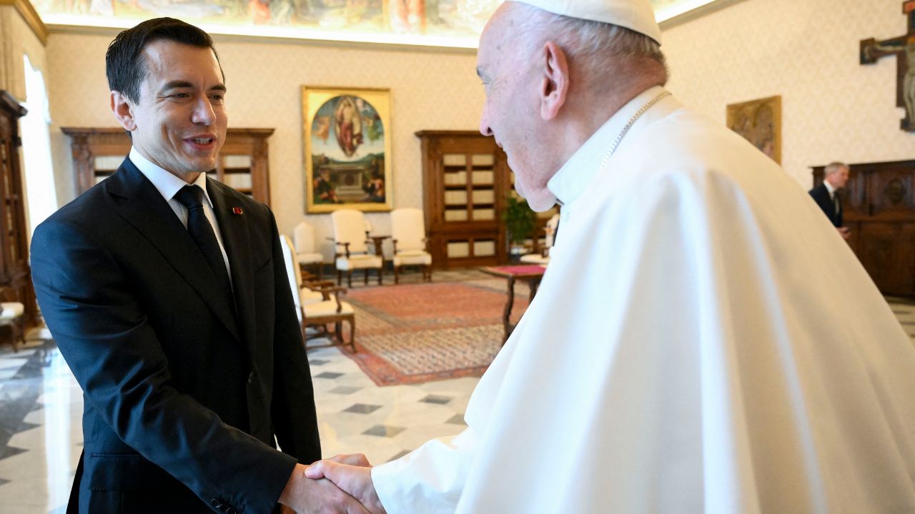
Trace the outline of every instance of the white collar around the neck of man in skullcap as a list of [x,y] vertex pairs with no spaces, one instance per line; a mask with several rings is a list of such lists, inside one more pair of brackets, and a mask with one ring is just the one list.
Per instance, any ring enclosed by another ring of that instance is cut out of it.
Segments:
[[641,91],[619,111],[614,112],[607,122],[601,125],[585,144],[569,157],[569,160],[565,161],[565,165],[559,168],[559,171],[546,183],[546,187],[550,189],[560,205],[572,203],[585,191],[599,168],[595,164],[595,156],[602,156],[602,153],[613,143],[613,140],[622,132],[623,127],[629,123],[630,118],[639,111],[641,106],[663,91],[661,86]]

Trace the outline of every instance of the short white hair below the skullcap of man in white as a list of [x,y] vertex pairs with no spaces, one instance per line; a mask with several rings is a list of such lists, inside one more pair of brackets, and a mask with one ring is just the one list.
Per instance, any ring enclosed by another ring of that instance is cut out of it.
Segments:
[[664,81],[667,64],[661,45],[651,37],[626,27],[598,21],[555,15],[533,5],[511,2],[519,9],[513,16],[512,31],[526,43],[528,51],[538,50],[553,41],[566,56],[587,70],[612,72],[623,61],[651,59],[661,65]]

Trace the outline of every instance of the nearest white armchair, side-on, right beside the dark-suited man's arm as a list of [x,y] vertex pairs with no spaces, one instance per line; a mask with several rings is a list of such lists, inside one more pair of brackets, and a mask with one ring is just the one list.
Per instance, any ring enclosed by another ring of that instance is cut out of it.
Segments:
[[[306,327],[327,327],[328,323],[333,323],[337,342],[324,346],[346,344],[343,341],[342,330],[342,322],[346,321],[350,324],[350,348],[355,352],[356,311],[352,308],[352,305],[339,300],[339,294],[346,292],[346,289],[314,285],[303,287],[302,275],[299,272],[298,262],[294,257],[292,240],[288,236],[280,236],[280,245],[283,247],[286,275],[289,278],[289,287],[293,291],[292,297],[293,302],[296,304],[296,316],[298,316],[298,321],[301,325],[302,338],[307,339]],[[312,289],[312,287],[315,288]],[[333,299],[330,299],[331,295]]]

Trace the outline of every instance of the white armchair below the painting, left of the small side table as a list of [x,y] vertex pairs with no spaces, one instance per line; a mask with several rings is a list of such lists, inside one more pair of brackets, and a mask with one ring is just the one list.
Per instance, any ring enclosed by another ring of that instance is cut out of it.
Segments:
[[359,210],[338,209],[330,214],[334,222],[334,243],[337,245],[337,285],[346,272],[347,284],[352,287],[352,271],[365,272],[365,284],[369,284],[369,270],[378,273],[378,284],[382,284],[381,255],[369,253],[369,241],[365,237],[365,219]]

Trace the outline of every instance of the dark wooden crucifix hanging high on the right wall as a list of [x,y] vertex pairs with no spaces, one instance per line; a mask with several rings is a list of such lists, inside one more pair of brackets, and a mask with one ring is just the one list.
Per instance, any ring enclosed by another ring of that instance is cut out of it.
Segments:
[[902,14],[906,15],[909,31],[899,37],[883,41],[871,37],[861,40],[861,64],[873,64],[881,57],[896,56],[897,79],[896,105],[904,107],[906,117],[899,126],[904,131],[915,132],[915,0],[902,3]]

